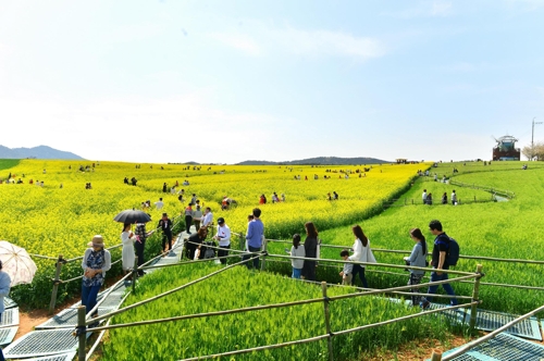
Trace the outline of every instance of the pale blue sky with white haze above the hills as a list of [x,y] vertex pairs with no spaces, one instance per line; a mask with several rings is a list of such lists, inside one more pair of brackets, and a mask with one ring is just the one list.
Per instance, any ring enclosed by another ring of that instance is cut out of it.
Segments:
[[491,159],[544,121],[543,35],[544,0],[2,1],[0,145]]

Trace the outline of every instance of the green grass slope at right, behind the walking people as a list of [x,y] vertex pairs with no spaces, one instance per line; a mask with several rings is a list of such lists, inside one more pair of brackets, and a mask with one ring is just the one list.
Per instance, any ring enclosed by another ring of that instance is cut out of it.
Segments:
[[[491,166],[483,166],[483,163],[471,163],[466,167],[462,167],[462,164],[455,164],[460,172],[455,179],[512,190],[516,192],[516,198],[510,201],[457,207],[423,204],[394,207],[378,216],[354,223],[361,224],[373,248],[411,250],[413,242],[408,232],[412,227],[421,228],[428,241],[432,241],[433,236],[428,231],[428,224],[431,220],[437,219],[443,223],[445,232],[458,240],[461,254],[543,260],[544,217],[541,209],[544,201],[544,167],[540,163],[530,163],[529,170],[522,171],[521,164],[521,162],[494,162]],[[449,167],[441,164],[436,169],[437,172],[444,172],[445,166]],[[405,196],[407,198],[419,196],[425,187],[429,188],[428,182],[416,183]],[[473,191],[468,188],[455,188],[461,199]],[[322,232],[320,237],[329,244],[346,246],[353,244],[349,227],[327,229]],[[337,253],[336,250],[324,250],[323,257],[338,258]],[[403,264],[403,254],[376,252],[375,256],[379,262]],[[485,277],[482,282],[544,286],[542,265],[461,260],[456,270],[473,272],[478,263],[484,267]],[[371,287],[381,288],[406,282],[404,274],[384,276],[370,273],[368,278]],[[458,294],[469,296],[472,286],[455,285],[455,289]],[[480,288],[482,308],[517,314],[542,306],[542,296],[543,291],[539,290],[492,286]]]

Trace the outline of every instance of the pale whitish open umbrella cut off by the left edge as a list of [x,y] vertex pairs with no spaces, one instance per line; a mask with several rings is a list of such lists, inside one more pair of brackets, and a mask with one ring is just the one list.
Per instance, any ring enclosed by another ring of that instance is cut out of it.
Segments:
[[2,261],[2,271],[10,275],[12,287],[33,282],[38,267],[24,248],[7,240],[0,240],[0,260]]

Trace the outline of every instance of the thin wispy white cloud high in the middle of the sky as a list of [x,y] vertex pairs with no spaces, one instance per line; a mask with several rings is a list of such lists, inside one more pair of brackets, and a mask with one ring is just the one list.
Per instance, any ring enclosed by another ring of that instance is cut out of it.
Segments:
[[382,41],[371,37],[354,36],[343,32],[301,30],[293,27],[269,27],[254,22],[246,25],[252,35],[213,33],[211,36],[224,45],[250,55],[267,53],[308,54],[312,57],[347,57],[357,60],[385,54]]

